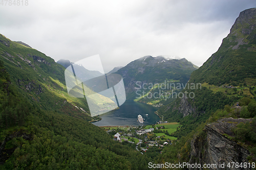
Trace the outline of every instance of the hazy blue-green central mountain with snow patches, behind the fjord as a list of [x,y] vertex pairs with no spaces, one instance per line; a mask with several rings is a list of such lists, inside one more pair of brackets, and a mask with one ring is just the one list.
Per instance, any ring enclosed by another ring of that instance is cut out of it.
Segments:
[[[185,84],[194,70],[196,70],[194,65],[185,58],[172,59],[163,56],[144,56],[120,68],[116,73],[123,77],[128,100],[157,104],[160,101],[165,101],[165,99],[160,98],[159,85],[173,83],[177,87],[178,83]],[[170,87],[167,88],[167,86],[161,88],[161,90],[161,93],[171,92]],[[176,88],[174,90],[180,89]],[[150,92],[158,93],[155,95],[158,99],[148,99],[147,96],[150,97]]]

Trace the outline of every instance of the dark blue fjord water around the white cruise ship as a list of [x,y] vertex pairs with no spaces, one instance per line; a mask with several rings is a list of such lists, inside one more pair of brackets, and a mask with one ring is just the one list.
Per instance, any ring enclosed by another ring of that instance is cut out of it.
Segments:
[[[125,101],[119,109],[99,115],[102,119],[93,124],[96,126],[142,126],[156,124],[160,118],[154,112],[158,109],[159,107],[153,107],[144,103]],[[144,123],[139,123],[139,114],[144,118]]]

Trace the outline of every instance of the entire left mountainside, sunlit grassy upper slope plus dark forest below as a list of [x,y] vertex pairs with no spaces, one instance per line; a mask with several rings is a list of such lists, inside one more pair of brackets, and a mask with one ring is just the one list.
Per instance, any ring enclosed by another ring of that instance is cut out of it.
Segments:
[[65,69],[0,35],[0,169],[147,169],[135,144],[88,122],[98,117],[68,94]]

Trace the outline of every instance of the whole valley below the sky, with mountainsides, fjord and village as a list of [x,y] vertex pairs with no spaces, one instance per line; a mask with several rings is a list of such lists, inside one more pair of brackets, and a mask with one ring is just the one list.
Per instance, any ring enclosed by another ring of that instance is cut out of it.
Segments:
[[[115,67],[110,72],[121,75],[126,93],[116,109],[114,85],[107,98],[94,91],[101,81],[81,83],[103,76],[109,84],[108,76],[69,60],[55,62],[33,44],[0,34],[0,169],[140,170],[150,162],[254,169],[255,26],[256,8],[242,11],[201,67],[150,55]],[[79,73],[65,74],[70,65]],[[69,76],[83,87],[73,94],[97,94],[96,108],[114,110],[93,116],[87,98],[69,93]]]

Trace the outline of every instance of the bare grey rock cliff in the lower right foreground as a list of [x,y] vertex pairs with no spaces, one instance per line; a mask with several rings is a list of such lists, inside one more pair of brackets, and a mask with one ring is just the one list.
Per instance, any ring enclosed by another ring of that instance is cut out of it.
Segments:
[[[240,122],[251,121],[251,119],[223,118],[218,122],[205,126],[202,134],[191,140],[190,164],[216,164],[216,168],[209,169],[242,169],[241,167],[228,167],[231,162],[247,162],[250,152],[239,145],[236,141],[228,139],[225,134],[233,135],[231,129]],[[225,164],[221,168],[220,164]],[[190,168],[192,169],[192,168]],[[193,168],[193,169],[203,169]],[[243,169],[250,169],[249,167]]]

